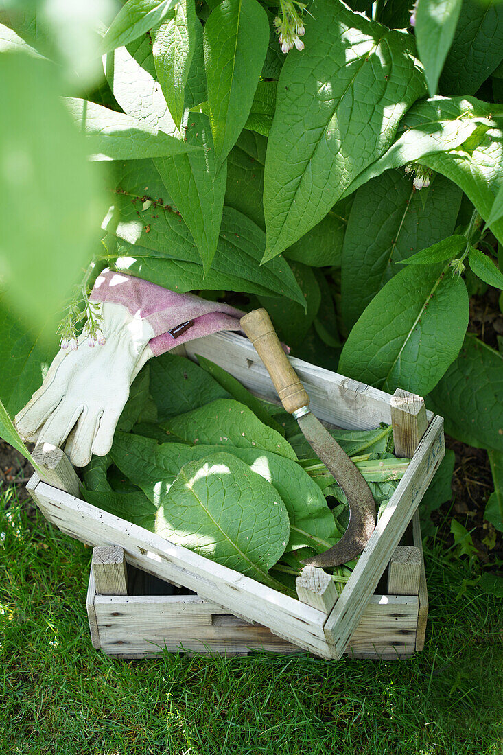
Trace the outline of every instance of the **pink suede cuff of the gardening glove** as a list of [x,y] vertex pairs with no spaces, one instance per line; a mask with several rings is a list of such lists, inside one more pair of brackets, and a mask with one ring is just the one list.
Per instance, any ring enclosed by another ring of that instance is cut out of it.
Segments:
[[146,319],[156,335],[149,344],[154,356],[194,338],[221,330],[241,330],[239,319],[243,313],[228,304],[195,294],[177,294],[111,270],[103,270],[97,277],[90,299],[122,304],[132,316]]

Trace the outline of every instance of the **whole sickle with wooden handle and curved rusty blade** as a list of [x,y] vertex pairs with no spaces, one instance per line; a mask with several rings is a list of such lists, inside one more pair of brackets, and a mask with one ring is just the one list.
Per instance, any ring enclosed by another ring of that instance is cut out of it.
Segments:
[[310,411],[309,396],[287,359],[266,310],[253,310],[241,327],[255,346],[286,411],[298,421],[316,456],[334,476],[347,498],[350,520],[346,532],[332,548],[305,559],[310,566],[338,566],[362,553],[375,529],[375,501],[362,473],[338,442]]

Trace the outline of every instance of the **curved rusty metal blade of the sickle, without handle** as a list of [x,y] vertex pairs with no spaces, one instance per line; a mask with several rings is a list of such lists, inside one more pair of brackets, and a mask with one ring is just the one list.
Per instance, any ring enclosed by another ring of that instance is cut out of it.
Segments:
[[341,540],[325,553],[304,559],[309,566],[338,566],[359,556],[375,529],[375,501],[360,470],[326,427],[309,412],[298,419],[299,427],[318,458],[344,490],[350,521]]

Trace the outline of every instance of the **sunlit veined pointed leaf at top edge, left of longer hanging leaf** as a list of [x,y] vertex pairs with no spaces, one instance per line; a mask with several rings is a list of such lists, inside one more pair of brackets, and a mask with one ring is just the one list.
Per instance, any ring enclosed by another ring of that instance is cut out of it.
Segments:
[[173,17],[153,31],[153,58],[169,112],[181,130],[185,85],[196,48],[196,6],[194,0],[178,0]]

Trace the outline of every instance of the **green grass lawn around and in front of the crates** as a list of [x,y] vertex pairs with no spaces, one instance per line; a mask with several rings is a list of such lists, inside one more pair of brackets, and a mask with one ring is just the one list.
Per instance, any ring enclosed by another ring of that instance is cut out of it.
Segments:
[[91,548],[12,489],[0,508],[2,755],[503,753],[501,600],[442,544],[425,550],[427,644],[410,661],[116,661],[91,646]]

